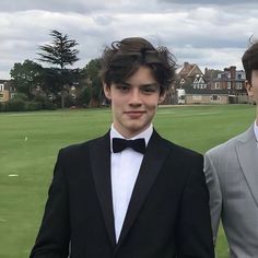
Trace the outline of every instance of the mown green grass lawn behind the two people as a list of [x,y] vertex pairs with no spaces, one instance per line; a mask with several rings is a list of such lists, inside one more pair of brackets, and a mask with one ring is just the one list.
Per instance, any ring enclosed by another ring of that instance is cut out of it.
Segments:
[[[165,138],[204,153],[246,130],[251,105],[162,107],[154,120]],[[60,148],[103,134],[109,109],[0,114],[0,257],[27,258],[42,220]],[[218,258],[226,258],[222,230]]]

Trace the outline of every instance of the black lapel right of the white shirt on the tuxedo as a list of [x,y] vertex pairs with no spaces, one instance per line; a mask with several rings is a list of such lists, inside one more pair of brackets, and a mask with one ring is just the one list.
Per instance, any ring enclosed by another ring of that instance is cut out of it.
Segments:
[[126,238],[168,154],[169,146],[165,143],[166,142],[153,131],[132,191],[117,248]]

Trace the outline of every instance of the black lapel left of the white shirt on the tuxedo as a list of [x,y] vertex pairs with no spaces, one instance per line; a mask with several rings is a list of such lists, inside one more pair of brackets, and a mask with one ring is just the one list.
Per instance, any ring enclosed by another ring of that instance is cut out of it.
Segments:
[[105,134],[99,140],[92,142],[89,149],[97,197],[112,245],[115,246],[116,238],[112,198],[109,133]]

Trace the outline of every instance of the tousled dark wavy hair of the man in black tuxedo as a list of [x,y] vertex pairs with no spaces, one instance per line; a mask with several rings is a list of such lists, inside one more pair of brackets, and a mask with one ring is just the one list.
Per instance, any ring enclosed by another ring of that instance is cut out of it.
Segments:
[[131,77],[141,66],[149,67],[161,86],[161,93],[175,80],[176,60],[166,47],[153,47],[141,37],[129,37],[106,47],[101,77],[107,86]]

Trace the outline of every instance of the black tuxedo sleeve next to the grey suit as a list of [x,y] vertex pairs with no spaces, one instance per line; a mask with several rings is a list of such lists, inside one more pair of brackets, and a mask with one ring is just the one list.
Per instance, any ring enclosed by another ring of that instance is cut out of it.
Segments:
[[202,155],[188,161],[189,175],[181,196],[179,213],[179,258],[213,258],[209,191]]

